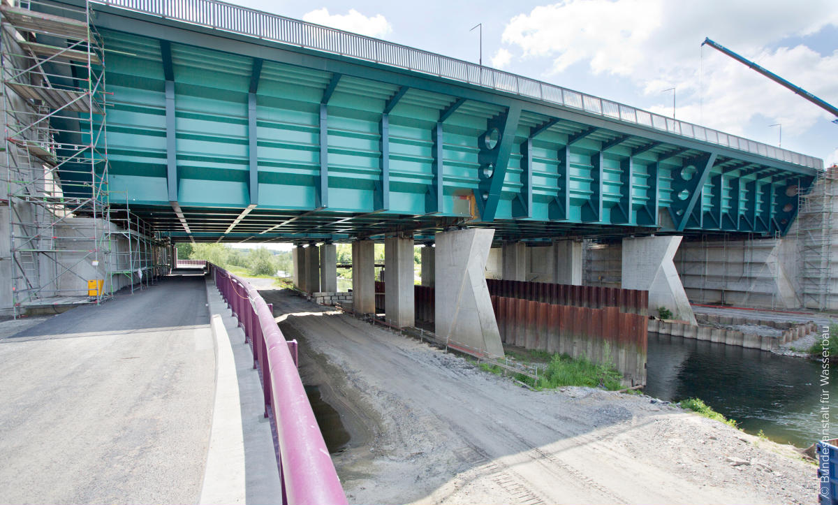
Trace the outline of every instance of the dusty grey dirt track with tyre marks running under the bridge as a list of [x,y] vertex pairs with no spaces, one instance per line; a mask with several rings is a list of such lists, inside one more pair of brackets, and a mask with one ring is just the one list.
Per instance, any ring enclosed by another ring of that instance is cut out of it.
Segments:
[[816,502],[815,466],[778,454],[788,448],[648,397],[530,392],[304,299],[262,294],[353,436],[334,456],[349,502]]

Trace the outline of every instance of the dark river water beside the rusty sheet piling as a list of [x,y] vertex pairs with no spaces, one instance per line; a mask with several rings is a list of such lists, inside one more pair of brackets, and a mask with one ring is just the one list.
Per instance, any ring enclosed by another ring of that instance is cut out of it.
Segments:
[[[644,393],[701,398],[747,433],[808,447],[820,438],[820,372],[804,358],[649,333]],[[826,390],[830,400],[838,393],[834,383]]]

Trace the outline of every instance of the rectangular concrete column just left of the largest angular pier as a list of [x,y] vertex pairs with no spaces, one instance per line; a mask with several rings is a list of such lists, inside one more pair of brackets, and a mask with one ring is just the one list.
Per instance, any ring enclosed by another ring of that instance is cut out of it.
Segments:
[[413,237],[384,240],[384,311],[399,327],[416,324],[413,305]]

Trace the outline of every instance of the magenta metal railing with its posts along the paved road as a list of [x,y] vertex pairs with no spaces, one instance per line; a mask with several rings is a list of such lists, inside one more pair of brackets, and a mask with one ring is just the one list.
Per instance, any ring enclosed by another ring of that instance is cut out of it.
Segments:
[[344,489],[308,403],[297,358],[273,318],[272,307],[256,288],[224,268],[209,263],[209,274],[244,328],[253,367],[260,367],[266,415],[272,409],[277,428],[282,503],[344,505]]

